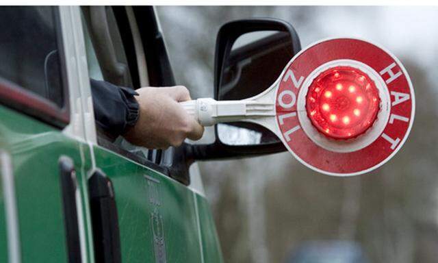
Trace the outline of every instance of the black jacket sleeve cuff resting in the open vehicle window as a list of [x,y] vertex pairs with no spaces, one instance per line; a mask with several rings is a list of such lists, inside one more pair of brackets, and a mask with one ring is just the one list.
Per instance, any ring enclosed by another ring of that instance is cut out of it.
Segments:
[[96,125],[116,137],[136,124],[139,105],[135,90],[90,79]]

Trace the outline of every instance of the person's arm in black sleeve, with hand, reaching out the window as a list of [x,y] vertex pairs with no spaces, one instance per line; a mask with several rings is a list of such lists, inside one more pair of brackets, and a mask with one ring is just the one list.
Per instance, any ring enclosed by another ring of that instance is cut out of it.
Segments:
[[114,137],[149,149],[198,140],[204,129],[178,102],[190,100],[187,88],[145,87],[136,91],[90,80],[96,125]]

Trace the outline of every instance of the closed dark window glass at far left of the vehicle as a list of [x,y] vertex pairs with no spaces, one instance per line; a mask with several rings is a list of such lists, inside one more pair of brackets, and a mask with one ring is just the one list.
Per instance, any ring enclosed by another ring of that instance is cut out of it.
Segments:
[[57,8],[0,8],[0,77],[64,105]]

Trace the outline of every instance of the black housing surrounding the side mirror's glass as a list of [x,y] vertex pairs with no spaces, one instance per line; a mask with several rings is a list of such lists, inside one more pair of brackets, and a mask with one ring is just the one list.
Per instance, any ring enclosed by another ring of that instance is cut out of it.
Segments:
[[[244,47],[236,49],[235,51],[233,50],[233,53],[231,54],[231,49],[237,38],[244,34],[261,31],[276,31],[279,33],[268,36],[266,38],[262,38],[261,40],[256,40],[255,42],[251,42]],[[269,47],[272,47],[273,45],[279,45],[279,42],[287,43],[289,45],[287,49],[290,49],[290,52],[288,51],[288,53],[290,54],[290,58],[287,58],[287,61],[292,59],[292,57],[301,49],[298,34],[296,34],[294,27],[292,27],[292,25],[290,25],[286,21],[274,18],[252,18],[231,21],[222,25],[216,39],[216,54],[214,60],[214,99],[223,99],[220,96],[220,87],[221,83],[224,81],[224,71],[230,64],[230,58],[234,62],[236,59],[244,60],[246,59],[245,54],[239,54],[239,52],[248,51],[253,55],[259,55],[261,53],[266,53],[268,50],[268,53],[266,55],[269,55]],[[264,87],[263,85],[261,85],[261,87],[264,89],[269,88],[270,84],[272,84],[274,80],[279,77],[279,74],[281,73],[281,70],[284,68],[284,66],[285,64],[281,64],[279,66],[279,68],[281,68],[279,72],[264,71],[263,75],[268,75],[268,79],[272,79],[272,82],[270,80],[270,83],[267,83],[266,87]],[[246,88],[246,86],[244,88]],[[260,92],[261,91],[263,90],[260,90]],[[246,97],[235,97],[230,99],[246,99]],[[246,127],[248,129],[265,130],[264,132],[268,132],[275,136],[266,128],[253,123],[233,123],[233,126]],[[215,125],[214,131],[214,143],[209,145],[191,145],[190,147],[188,147],[188,155],[192,156],[194,160],[211,160],[226,158],[245,158],[286,151],[286,148],[281,140],[258,145],[227,145],[224,144],[218,136],[218,125]]]

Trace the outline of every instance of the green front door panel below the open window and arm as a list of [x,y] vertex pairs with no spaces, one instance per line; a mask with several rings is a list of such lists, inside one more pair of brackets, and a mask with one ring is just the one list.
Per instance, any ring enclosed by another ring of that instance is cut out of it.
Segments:
[[222,262],[219,252],[202,258],[220,251],[216,236],[200,231],[215,229],[199,222],[210,213],[196,207],[205,197],[107,149],[94,147],[94,155],[114,186],[123,262]]

